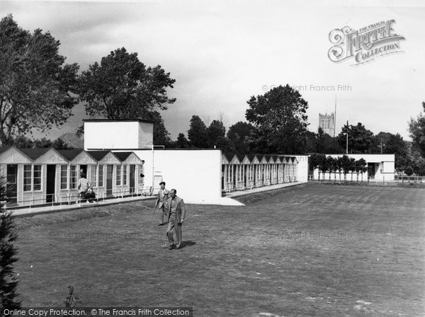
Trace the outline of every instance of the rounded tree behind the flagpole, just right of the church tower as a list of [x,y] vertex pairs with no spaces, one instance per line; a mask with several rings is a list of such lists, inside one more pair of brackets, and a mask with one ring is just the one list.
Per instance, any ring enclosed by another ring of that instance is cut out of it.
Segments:
[[344,125],[338,134],[338,143],[346,147],[346,133],[348,130],[348,151],[350,153],[370,153],[374,137],[373,132],[366,129],[361,122],[357,125]]

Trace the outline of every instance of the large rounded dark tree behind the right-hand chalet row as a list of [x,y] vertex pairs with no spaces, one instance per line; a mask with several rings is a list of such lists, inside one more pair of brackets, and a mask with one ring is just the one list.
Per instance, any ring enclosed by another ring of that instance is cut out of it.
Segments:
[[278,86],[247,103],[246,120],[256,127],[254,141],[261,152],[305,153],[308,104],[298,91]]

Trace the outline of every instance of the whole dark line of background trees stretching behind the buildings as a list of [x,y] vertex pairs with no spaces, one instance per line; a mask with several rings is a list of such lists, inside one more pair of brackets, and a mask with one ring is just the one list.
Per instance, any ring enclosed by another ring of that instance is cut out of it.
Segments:
[[[33,129],[41,132],[63,125],[77,103],[86,114],[110,120],[145,119],[154,122],[154,144],[181,148],[217,147],[237,154],[344,153],[346,135],[350,153],[395,154],[395,167],[408,175],[425,175],[425,116],[409,122],[413,142],[399,134],[374,135],[361,122],[344,125],[337,137],[309,132],[308,103],[290,87],[278,86],[246,101],[246,122],[226,127],[210,125],[193,115],[186,134],[172,141],[161,112],[173,105],[169,97],[175,79],[160,65],[147,67],[137,53],[125,47],[113,50],[79,74],[77,63],[66,64],[60,41],[42,30],[23,30],[13,16],[0,21],[0,142],[1,145],[40,146],[18,137]],[[422,104],[425,110],[425,104]],[[79,133],[83,133],[82,127]],[[51,142],[66,148],[61,141]]]

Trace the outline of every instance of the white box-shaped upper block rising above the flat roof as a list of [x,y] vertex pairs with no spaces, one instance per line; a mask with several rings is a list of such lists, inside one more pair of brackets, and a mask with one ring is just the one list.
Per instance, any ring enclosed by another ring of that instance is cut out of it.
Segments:
[[153,124],[135,121],[85,121],[84,149],[141,149],[152,146]]

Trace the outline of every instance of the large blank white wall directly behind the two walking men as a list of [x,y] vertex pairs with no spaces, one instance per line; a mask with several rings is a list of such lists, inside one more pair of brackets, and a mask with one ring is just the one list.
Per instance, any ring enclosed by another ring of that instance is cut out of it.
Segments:
[[[177,190],[177,195],[191,204],[222,204],[221,151],[210,150],[155,150],[134,151],[145,160],[145,185],[152,186],[162,176],[166,188]],[[157,194],[159,184],[154,184]]]

